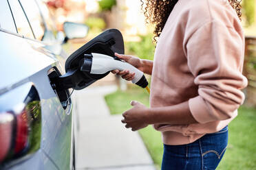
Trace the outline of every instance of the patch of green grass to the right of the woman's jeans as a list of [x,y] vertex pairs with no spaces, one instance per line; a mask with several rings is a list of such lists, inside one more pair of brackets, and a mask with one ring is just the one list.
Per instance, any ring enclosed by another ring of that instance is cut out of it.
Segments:
[[226,154],[218,169],[256,169],[256,109],[241,107],[228,126]]

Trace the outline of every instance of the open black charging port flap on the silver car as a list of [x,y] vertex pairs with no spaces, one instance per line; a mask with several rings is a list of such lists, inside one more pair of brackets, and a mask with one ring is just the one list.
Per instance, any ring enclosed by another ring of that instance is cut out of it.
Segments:
[[115,52],[125,53],[122,34],[118,29],[108,29],[74,51],[67,58],[65,62],[65,75],[50,77],[53,88],[57,91],[67,90],[68,88],[81,90],[96,82],[96,80],[105,77],[109,72],[102,75],[94,75],[81,71],[81,61],[85,59],[86,54],[91,53],[102,53],[115,58]]

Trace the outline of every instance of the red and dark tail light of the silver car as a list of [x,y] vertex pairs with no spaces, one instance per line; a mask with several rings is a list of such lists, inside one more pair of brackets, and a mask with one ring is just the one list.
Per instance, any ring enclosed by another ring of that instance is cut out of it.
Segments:
[[[0,169],[1,165],[28,153],[32,154],[40,147],[39,94],[32,84],[21,87],[23,88],[17,88],[13,93],[0,96]],[[27,92],[24,93],[24,90]],[[16,96],[18,99],[15,101],[14,95],[19,94],[24,96]],[[6,105],[2,103],[5,101],[8,101]]]

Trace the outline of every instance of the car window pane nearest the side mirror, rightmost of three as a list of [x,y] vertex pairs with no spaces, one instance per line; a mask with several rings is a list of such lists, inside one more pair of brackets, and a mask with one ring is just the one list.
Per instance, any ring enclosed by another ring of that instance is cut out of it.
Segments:
[[28,17],[28,21],[32,27],[34,32],[34,36],[36,36],[36,40],[42,40],[43,35],[45,34],[45,25],[43,23],[43,19],[41,13],[39,11],[39,7],[34,0],[19,0],[21,5],[25,11],[25,14]]

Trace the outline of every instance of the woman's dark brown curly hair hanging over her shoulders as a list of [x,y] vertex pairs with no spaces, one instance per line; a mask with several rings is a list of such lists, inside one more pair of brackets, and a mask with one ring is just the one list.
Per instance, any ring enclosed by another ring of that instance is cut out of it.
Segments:
[[[159,38],[165,23],[171,14],[175,4],[178,0],[140,0],[142,2],[141,9],[144,10],[147,23],[153,23],[154,29],[154,41],[157,42],[156,38]],[[242,16],[242,0],[228,0],[232,8],[237,12],[237,16],[241,20]],[[144,8],[145,5],[145,8]],[[144,8],[144,9],[143,9]]]

